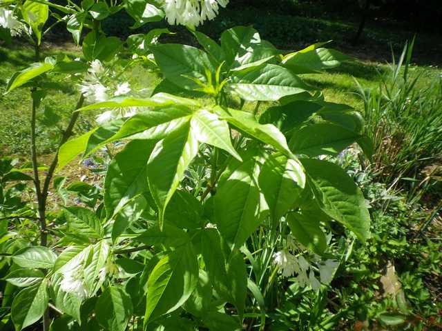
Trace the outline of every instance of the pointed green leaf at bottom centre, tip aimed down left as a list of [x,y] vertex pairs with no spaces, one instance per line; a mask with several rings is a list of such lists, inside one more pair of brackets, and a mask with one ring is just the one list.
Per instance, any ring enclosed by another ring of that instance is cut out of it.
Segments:
[[147,281],[144,323],[173,312],[191,296],[198,282],[198,261],[191,244],[167,253]]

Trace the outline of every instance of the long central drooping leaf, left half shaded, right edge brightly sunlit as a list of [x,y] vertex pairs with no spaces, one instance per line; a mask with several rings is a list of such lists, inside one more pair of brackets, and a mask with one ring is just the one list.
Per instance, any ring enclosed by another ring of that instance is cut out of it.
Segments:
[[184,177],[193,158],[198,153],[198,141],[186,123],[159,141],[148,160],[149,188],[160,212],[160,227],[164,210]]

